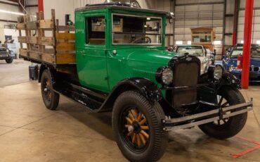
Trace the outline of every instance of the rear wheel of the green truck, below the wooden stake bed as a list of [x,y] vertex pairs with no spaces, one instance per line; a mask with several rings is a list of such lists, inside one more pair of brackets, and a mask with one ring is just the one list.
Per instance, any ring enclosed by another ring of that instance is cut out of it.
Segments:
[[[46,108],[56,110],[60,101],[60,94],[53,91],[51,73],[44,70],[41,75],[41,96]],[[48,83],[47,83],[48,82]]]

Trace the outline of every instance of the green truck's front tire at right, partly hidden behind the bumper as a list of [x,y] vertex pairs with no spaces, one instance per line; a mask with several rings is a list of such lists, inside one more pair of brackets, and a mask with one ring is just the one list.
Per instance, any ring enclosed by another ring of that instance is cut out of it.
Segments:
[[[219,96],[223,96],[226,99],[226,103],[230,106],[235,104],[245,103],[245,99],[242,94],[231,87],[224,87],[219,91]],[[214,137],[216,139],[227,139],[238,134],[245,126],[247,122],[247,113],[242,113],[237,116],[230,117],[223,120],[223,124],[207,123],[200,125],[200,130],[202,130],[206,135]]]

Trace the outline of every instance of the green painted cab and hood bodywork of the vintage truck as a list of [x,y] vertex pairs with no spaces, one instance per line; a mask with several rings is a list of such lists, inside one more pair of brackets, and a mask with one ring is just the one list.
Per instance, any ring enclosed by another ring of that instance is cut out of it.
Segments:
[[[162,18],[162,45],[113,45],[112,13],[126,15],[147,15]],[[105,16],[105,45],[86,44],[86,18]],[[112,7],[76,11],[76,59],[79,82],[85,87],[109,93],[121,80],[129,77],[143,77],[155,80],[155,72],[167,66],[169,60],[176,56],[164,48],[166,14],[133,8],[124,10]],[[112,54],[116,50],[117,54]]]

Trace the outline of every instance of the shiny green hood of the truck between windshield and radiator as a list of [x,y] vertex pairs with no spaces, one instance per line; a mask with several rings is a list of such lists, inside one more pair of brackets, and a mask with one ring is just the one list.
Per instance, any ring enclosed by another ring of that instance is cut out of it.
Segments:
[[117,49],[118,54],[124,54],[124,78],[143,77],[153,82],[158,68],[168,66],[171,58],[176,53],[171,53],[165,49],[156,48],[124,48]]

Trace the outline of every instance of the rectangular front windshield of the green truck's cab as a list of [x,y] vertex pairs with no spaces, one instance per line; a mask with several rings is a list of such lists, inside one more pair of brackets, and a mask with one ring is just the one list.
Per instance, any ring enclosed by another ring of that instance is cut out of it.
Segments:
[[113,14],[113,44],[162,44],[162,18]]

